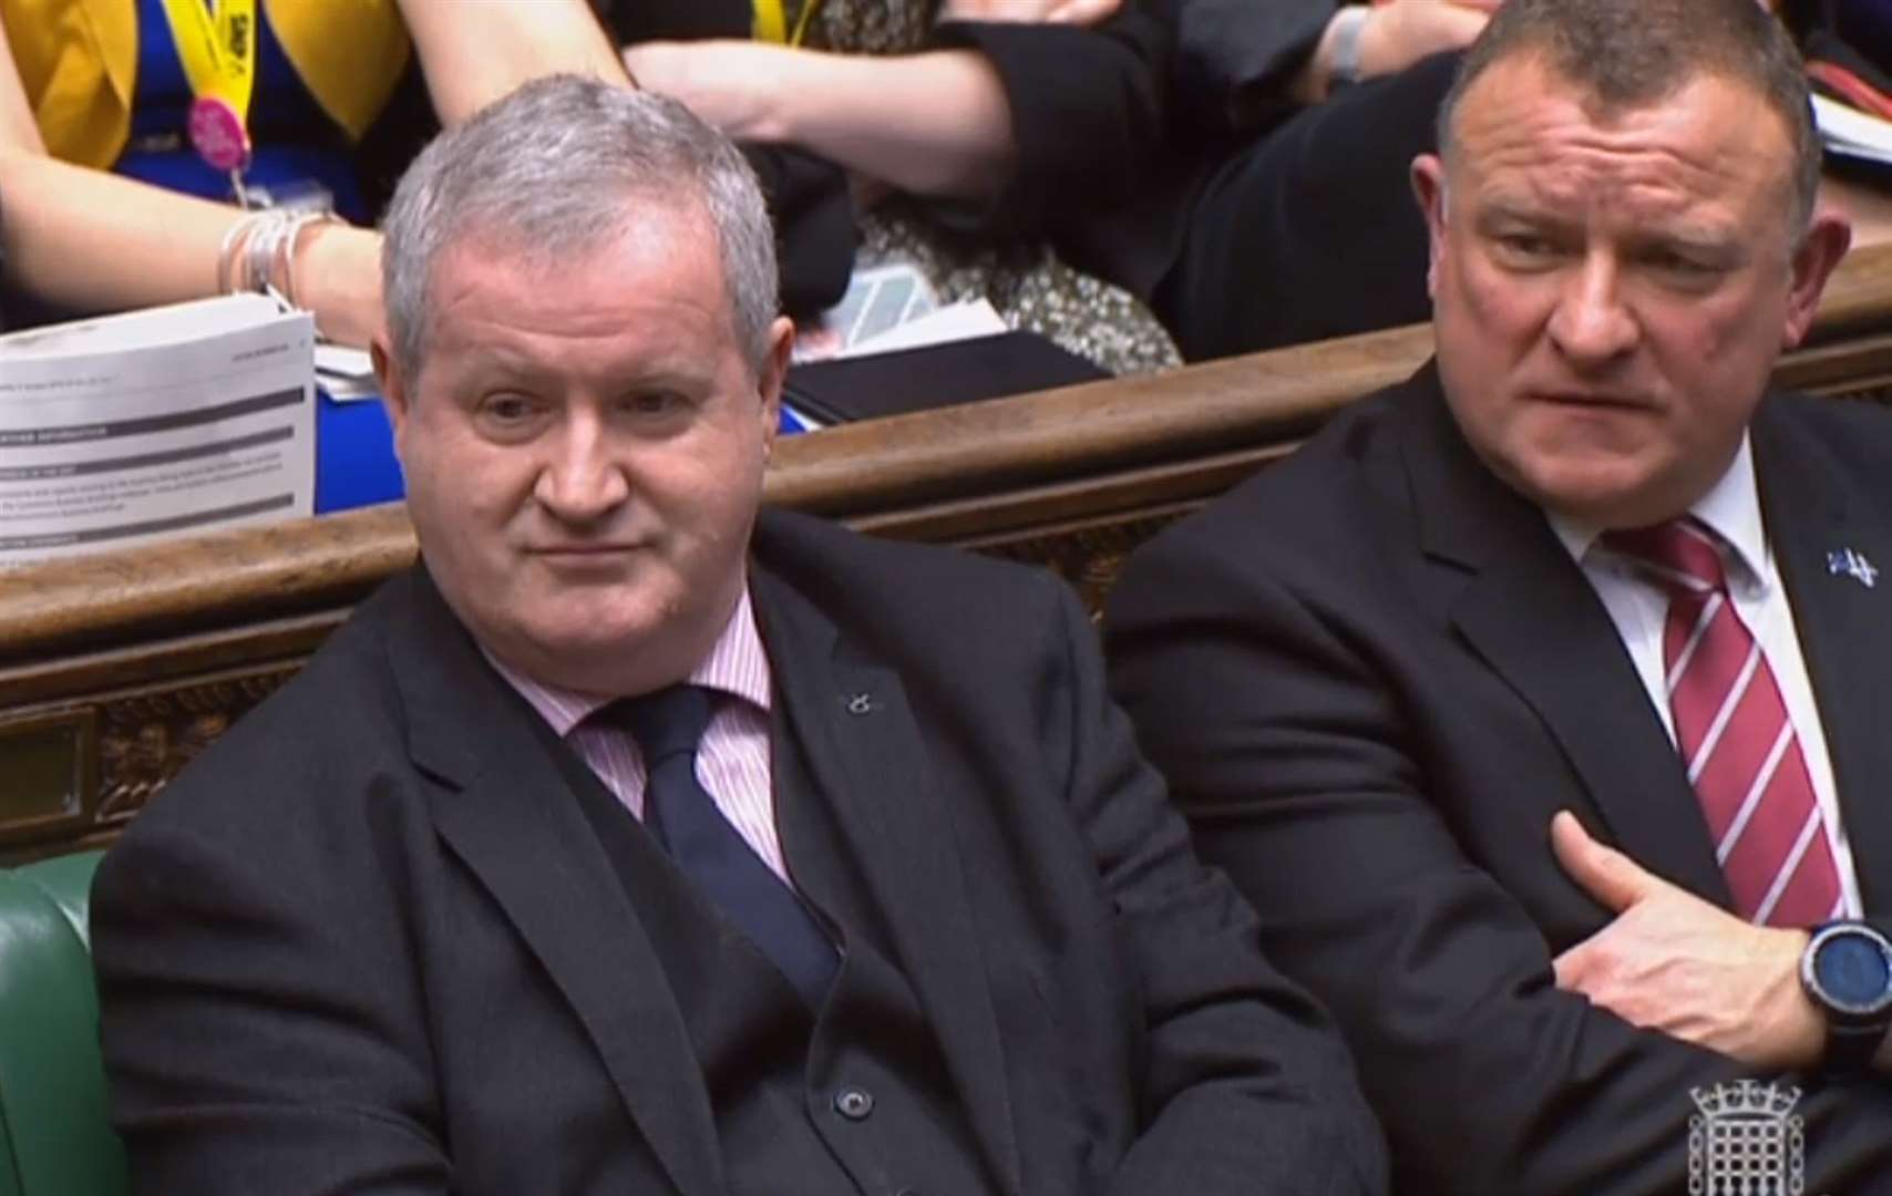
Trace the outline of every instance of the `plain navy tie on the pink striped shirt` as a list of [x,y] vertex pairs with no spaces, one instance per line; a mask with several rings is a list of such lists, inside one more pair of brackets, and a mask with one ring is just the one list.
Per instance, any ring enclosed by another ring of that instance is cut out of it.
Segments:
[[643,753],[645,829],[696,891],[774,961],[808,1007],[821,1009],[838,963],[832,941],[696,780],[696,746],[710,725],[710,693],[672,685],[613,702],[604,717],[628,730]]

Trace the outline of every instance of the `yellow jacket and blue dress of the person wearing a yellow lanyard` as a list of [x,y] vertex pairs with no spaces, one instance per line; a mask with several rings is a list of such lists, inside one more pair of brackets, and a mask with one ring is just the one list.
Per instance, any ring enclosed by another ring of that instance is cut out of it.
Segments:
[[[53,157],[229,199],[229,174],[185,136],[193,95],[163,0],[0,0],[0,13]],[[395,0],[263,0],[257,15],[246,182],[316,184],[341,216],[367,223],[350,150],[407,68]],[[401,496],[378,403],[318,397],[316,445],[318,511]]]

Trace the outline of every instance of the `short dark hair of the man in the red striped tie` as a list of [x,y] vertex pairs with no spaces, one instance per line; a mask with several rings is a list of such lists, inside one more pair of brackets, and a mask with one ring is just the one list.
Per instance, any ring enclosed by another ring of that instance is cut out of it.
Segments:
[[1807,227],[1820,189],[1820,136],[1805,64],[1786,28],[1754,0],[1506,0],[1440,104],[1440,153],[1451,151],[1472,83],[1495,62],[1533,55],[1604,112],[1657,104],[1701,76],[1752,89],[1794,148],[1794,229]]

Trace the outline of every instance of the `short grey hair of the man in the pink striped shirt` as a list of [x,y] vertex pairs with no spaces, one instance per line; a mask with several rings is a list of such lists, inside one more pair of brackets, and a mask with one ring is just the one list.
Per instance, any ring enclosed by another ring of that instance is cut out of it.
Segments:
[[448,246],[479,237],[569,261],[622,235],[639,201],[708,214],[736,343],[761,367],[778,310],[776,238],[749,163],[677,100],[560,74],[433,138],[401,176],[380,250],[401,373],[420,377],[433,269]]

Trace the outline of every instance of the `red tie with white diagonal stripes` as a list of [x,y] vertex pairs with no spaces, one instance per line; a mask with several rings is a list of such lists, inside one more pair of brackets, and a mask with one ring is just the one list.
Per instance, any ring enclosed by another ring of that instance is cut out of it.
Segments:
[[1714,536],[1673,519],[1604,532],[1603,543],[1669,590],[1661,655],[1674,740],[1735,912],[1760,925],[1837,918],[1839,869],[1799,736],[1727,594]]

